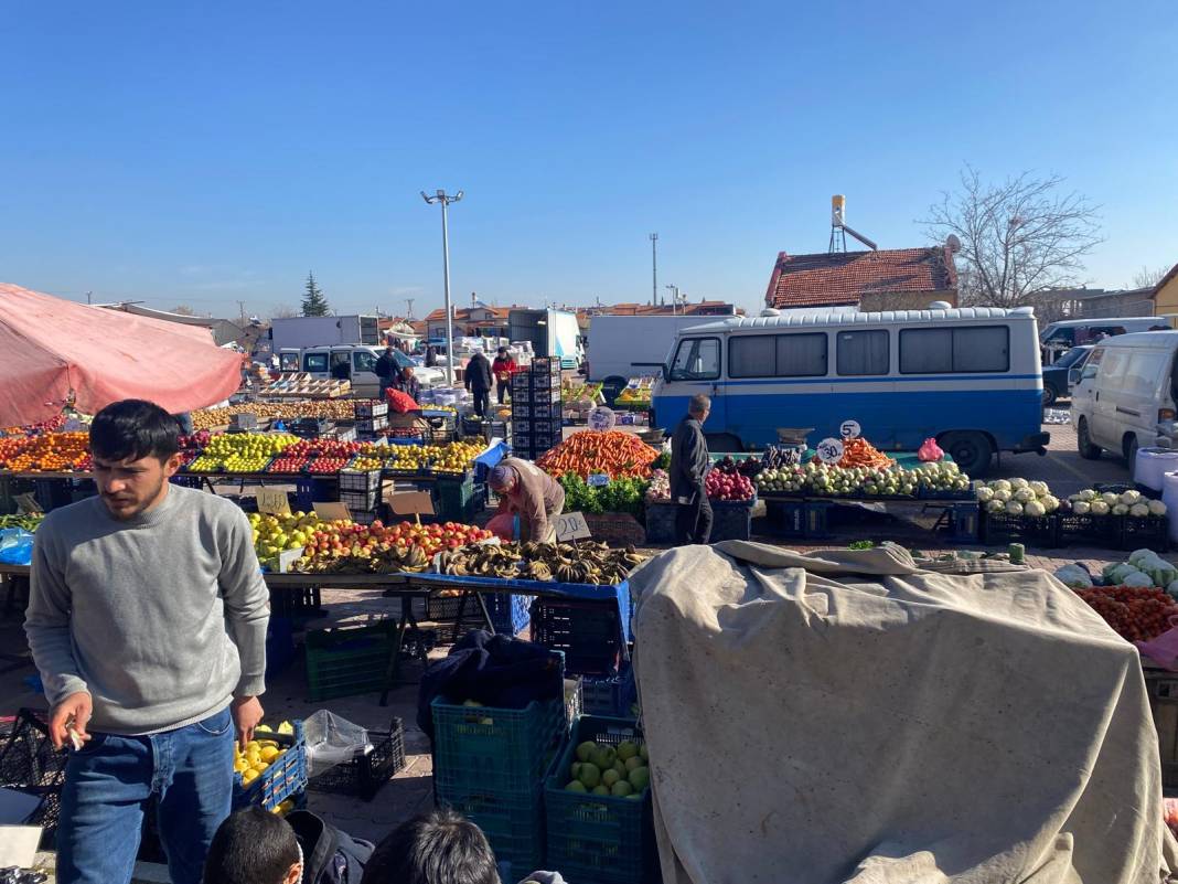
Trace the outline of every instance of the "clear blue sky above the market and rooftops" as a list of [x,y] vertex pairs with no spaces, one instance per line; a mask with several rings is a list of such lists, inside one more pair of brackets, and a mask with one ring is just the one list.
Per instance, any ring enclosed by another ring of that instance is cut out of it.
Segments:
[[[409,8],[413,6],[415,8]],[[236,315],[442,302],[760,303],[882,248],[964,161],[1101,204],[1090,284],[1178,262],[1172,0],[53,4],[0,20],[0,281]],[[900,12],[902,9],[902,12]]]

